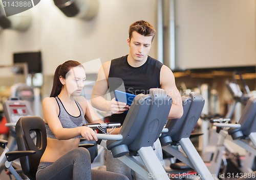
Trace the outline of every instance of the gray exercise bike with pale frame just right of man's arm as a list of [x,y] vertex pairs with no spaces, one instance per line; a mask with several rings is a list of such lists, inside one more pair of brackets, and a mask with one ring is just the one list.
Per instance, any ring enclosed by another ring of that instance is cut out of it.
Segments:
[[[201,94],[190,92],[189,96],[182,96],[182,103],[182,117],[168,120],[165,127],[169,131],[159,137],[162,149],[182,162],[171,164],[172,169],[166,169],[166,172],[174,174],[174,177],[182,174],[184,179],[189,179],[191,174],[198,174],[202,180],[214,179],[189,139],[200,118],[205,100]],[[181,146],[182,150],[177,149],[177,146]]]

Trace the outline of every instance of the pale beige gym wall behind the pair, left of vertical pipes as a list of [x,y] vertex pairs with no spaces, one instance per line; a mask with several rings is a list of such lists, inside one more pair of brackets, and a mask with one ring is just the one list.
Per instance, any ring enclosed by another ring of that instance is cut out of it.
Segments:
[[[13,53],[41,50],[44,75],[52,75],[69,59],[105,62],[123,56],[129,53],[126,39],[132,22],[144,19],[157,25],[157,0],[99,0],[98,13],[91,20],[65,16],[52,0],[41,0],[28,11],[32,22],[27,31],[0,31],[0,65],[12,64]],[[156,43],[153,57],[157,57]],[[3,71],[0,76],[10,75]]]

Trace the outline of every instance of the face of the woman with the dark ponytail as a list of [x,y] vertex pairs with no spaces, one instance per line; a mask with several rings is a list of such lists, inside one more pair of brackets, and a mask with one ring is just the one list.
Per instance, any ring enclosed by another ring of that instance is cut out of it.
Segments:
[[66,87],[68,93],[73,96],[80,96],[86,81],[86,72],[83,67],[77,66],[67,73]]

